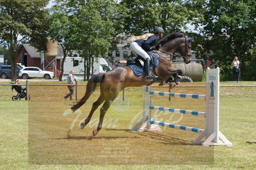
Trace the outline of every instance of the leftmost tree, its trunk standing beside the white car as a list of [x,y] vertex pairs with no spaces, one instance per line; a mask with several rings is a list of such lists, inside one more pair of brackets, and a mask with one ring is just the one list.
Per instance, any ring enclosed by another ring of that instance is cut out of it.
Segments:
[[16,79],[18,45],[24,39],[33,36],[33,31],[42,26],[48,14],[45,9],[48,2],[48,0],[0,1],[0,43],[8,46],[10,50],[12,81]]

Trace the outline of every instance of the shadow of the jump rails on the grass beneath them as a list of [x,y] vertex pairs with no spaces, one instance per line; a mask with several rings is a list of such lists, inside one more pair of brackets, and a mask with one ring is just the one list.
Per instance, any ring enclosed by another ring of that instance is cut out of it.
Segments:
[[[129,129],[106,129],[106,130],[131,132]],[[164,145],[193,145],[191,141],[187,141],[179,138],[173,138],[171,136],[159,134],[157,132],[132,132],[132,133],[138,134],[139,136],[145,136],[148,138],[157,139],[159,141],[162,141],[161,144],[164,144]]]

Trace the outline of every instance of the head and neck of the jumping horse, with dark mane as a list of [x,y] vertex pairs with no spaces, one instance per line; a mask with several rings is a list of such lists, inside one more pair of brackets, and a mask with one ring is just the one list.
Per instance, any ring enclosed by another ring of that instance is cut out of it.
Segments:
[[165,36],[159,41],[160,51],[174,54],[179,52],[182,55],[184,62],[189,64],[191,61],[191,41],[193,38],[184,37],[179,32],[174,32],[168,36]]

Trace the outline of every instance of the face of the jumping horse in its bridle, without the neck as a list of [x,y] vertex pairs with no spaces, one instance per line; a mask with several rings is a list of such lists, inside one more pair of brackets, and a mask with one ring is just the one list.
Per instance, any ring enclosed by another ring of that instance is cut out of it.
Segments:
[[189,64],[191,61],[191,41],[193,38],[190,37],[183,37],[183,43],[180,43],[178,51],[180,55],[182,55],[184,62]]

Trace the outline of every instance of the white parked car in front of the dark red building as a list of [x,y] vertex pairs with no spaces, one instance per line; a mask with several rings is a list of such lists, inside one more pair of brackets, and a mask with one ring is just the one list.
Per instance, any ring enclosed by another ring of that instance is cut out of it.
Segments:
[[38,67],[24,67],[19,71],[19,76],[23,79],[28,78],[45,78],[51,79],[54,76],[52,71],[42,71]]

